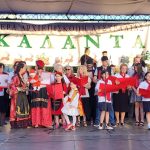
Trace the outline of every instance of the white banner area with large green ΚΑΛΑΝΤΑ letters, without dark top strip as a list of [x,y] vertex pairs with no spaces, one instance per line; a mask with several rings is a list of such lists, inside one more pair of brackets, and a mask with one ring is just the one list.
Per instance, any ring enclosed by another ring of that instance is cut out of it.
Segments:
[[85,47],[90,47],[90,55],[95,60],[106,50],[111,63],[118,65],[123,55],[129,56],[132,63],[136,54],[149,50],[149,42],[148,27],[95,35],[1,34],[0,62],[13,64],[24,60],[28,65],[35,65],[37,59],[42,59],[47,66],[52,66],[58,57],[63,65],[76,66]]

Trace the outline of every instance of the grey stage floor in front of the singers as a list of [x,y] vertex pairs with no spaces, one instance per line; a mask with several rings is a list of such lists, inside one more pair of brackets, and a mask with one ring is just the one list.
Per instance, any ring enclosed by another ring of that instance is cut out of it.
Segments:
[[0,150],[150,150],[150,131],[128,122],[113,131],[80,127],[76,131],[46,128],[0,128]]

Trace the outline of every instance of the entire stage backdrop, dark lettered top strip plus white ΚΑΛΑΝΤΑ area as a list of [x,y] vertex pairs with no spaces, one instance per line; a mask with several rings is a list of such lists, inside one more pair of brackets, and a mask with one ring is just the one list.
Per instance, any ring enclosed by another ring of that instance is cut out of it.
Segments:
[[136,54],[149,50],[149,34],[148,26],[102,28],[97,24],[63,28],[62,25],[5,23],[0,24],[0,62],[13,64],[24,60],[28,65],[35,65],[37,59],[42,59],[47,66],[52,66],[58,57],[63,65],[76,66],[84,49],[89,47],[91,57],[97,61],[101,52],[107,50],[110,63],[118,65],[122,56],[128,56],[132,63]]

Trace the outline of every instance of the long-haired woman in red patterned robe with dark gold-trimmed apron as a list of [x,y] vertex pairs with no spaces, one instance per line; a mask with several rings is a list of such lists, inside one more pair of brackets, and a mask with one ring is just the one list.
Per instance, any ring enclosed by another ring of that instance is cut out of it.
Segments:
[[31,125],[29,103],[26,95],[28,85],[23,78],[25,71],[25,63],[19,62],[15,70],[15,75],[9,85],[9,93],[11,96],[11,128],[26,128]]

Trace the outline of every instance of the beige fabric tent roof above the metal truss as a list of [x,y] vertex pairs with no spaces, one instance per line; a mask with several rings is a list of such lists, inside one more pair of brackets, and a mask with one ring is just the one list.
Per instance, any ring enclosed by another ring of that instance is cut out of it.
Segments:
[[0,0],[0,13],[150,14],[150,0]]

